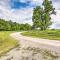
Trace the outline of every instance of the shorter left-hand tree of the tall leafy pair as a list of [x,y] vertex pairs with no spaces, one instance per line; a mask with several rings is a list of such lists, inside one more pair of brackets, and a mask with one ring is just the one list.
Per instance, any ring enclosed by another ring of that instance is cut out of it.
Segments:
[[42,11],[43,9],[40,6],[36,6],[33,11],[33,27],[41,27],[41,21],[42,21]]

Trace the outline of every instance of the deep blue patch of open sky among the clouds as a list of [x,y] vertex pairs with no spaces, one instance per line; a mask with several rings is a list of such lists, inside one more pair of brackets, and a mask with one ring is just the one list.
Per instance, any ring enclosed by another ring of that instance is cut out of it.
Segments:
[[30,1],[20,2],[19,0],[11,0],[11,8],[13,9],[21,9],[30,6]]

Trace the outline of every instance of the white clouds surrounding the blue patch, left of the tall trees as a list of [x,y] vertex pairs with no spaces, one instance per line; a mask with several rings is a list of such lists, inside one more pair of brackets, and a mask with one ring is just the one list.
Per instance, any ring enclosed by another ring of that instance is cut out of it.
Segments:
[[[17,0],[16,0],[17,1]],[[31,5],[40,3],[40,0],[20,0],[20,2],[30,1]],[[39,2],[38,2],[39,1]],[[0,0],[0,18],[6,20],[16,21],[18,23],[30,23],[32,24],[32,12],[33,8],[24,9],[11,9],[10,0]]]

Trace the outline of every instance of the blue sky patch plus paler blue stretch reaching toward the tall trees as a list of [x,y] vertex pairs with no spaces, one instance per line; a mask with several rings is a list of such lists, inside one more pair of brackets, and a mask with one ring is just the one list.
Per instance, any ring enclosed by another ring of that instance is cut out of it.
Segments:
[[[15,9],[35,7],[36,1],[38,0],[11,0],[11,7]],[[40,5],[41,1],[38,1],[38,3]]]

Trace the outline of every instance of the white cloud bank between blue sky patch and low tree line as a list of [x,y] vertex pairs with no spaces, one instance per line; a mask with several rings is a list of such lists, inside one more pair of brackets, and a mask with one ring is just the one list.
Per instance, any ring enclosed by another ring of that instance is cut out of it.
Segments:
[[32,17],[32,10],[33,8],[10,10],[0,6],[0,18],[16,21],[18,23],[28,23],[29,21],[31,21],[27,19]]

